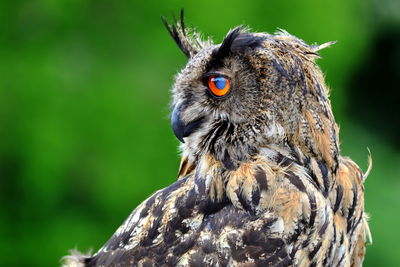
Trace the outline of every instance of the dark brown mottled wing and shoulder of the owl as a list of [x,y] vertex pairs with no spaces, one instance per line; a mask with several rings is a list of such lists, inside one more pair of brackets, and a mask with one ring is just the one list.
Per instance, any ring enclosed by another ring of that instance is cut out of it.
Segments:
[[250,213],[226,196],[211,200],[206,187],[203,177],[188,175],[156,192],[86,266],[290,264],[281,218]]

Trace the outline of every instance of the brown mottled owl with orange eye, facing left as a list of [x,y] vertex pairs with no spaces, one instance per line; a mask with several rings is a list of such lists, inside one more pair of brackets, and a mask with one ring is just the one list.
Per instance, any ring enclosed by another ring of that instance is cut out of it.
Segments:
[[94,255],[64,266],[361,266],[368,175],[339,152],[318,51],[236,27],[221,44],[179,21],[188,57],[172,89],[178,179]]

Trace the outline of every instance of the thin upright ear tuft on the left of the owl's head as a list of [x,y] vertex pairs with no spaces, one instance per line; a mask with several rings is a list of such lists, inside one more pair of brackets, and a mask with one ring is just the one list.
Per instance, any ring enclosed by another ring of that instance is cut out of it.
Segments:
[[188,29],[186,29],[183,9],[181,9],[179,21],[175,16],[173,18],[173,24],[168,24],[164,17],[161,17],[161,20],[175,43],[188,58],[192,58],[196,55],[205,45],[210,45],[209,42],[202,42],[198,33],[189,32]]

